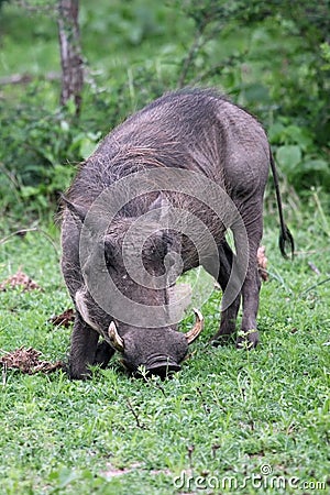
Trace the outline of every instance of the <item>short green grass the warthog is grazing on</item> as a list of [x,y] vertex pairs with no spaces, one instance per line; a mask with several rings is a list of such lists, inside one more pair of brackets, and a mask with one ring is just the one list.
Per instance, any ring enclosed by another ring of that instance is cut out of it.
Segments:
[[[317,485],[329,476],[323,222],[317,212],[297,222],[294,263],[280,258],[277,234],[266,228],[273,276],[262,288],[256,351],[208,344],[218,327],[215,293],[202,308],[206,329],[173,380],[134,380],[118,359],[88,382],[70,382],[63,371],[3,371],[0,493],[167,495],[199,486],[280,494],[301,492],[302,482],[301,493],[327,493],[329,477],[327,490]],[[53,245],[38,232],[0,244],[0,279],[20,265],[44,290],[0,293],[0,349],[33,346],[45,360],[66,360],[70,330],[47,323],[70,305]],[[267,469],[272,474],[260,477]],[[223,487],[224,476],[232,480]]]

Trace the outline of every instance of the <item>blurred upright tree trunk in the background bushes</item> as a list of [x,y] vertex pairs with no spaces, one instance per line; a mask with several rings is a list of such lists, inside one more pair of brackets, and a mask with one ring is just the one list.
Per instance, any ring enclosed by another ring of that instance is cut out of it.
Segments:
[[65,105],[72,98],[77,114],[80,111],[84,85],[78,7],[78,0],[58,0],[57,24],[62,65],[61,105]]

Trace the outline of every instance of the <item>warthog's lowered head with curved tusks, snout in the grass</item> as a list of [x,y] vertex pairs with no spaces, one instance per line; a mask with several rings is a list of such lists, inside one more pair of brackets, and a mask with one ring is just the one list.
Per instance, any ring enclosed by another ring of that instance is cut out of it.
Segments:
[[154,213],[117,218],[94,235],[82,262],[80,257],[85,287],[75,301],[82,319],[122,354],[130,371],[144,366],[165,376],[180,370],[202,317],[195,310],[194,328],[177,331],[185,302],[172,305],[170,294],[183,272],[182,235],[158,220]]

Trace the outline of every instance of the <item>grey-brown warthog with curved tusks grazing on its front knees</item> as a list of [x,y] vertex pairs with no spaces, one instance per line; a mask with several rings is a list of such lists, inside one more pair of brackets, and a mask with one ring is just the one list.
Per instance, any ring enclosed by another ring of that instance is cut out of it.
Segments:
[[63,197],[62,270],[76,307],[72,378],[106,366],[116,351],[133,373],[178,371],[202,316],[195,310],[195,327],[179,332],[173,286],[199,265],[227,294],[213,342],[234,332],[242,299],[237,345],[257,344],[256,253],[270,165],[285,256],[294,242],[266,134],[217,91],[165,95],[105,138]]

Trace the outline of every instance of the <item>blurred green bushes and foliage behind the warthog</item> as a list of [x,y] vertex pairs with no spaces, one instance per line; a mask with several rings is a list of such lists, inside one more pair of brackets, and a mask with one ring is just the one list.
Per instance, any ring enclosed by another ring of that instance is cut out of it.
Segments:
[[284,195],[297,194],[300,208],[317,191],[327,212],[329,12],[329,0],[81,0],[77,117],[73,100],[59,105],[57,2],[2,1],[0,213],[10,224],[53,215],[100,138],[186,85],[215,86],[252,111],[268,132]]

